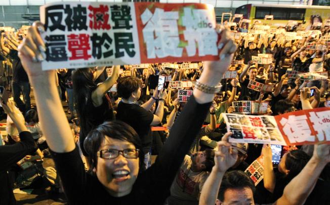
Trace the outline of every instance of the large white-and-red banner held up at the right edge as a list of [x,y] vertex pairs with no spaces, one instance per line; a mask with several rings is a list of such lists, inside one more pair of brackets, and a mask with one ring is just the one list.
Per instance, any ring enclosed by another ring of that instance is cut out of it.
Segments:
[[277,145],[330,144],[330,108],[299,110],[281,115],[223,113],[229,142]]

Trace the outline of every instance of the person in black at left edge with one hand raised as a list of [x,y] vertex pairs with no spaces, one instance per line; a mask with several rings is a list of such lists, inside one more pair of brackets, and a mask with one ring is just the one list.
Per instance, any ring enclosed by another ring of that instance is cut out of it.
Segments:
[[35,151],[37,145],[31,133],[25,127],[24,121],[21,121],[18,113],[14,112],[14,102],[9,101],[8,105],[5,105],[1,100],[1,105],[14,121],[21,139],[21,141],[16,144],[0,146],[0,205],[11,205],[16,204],[16,200],[7,171],[24,156]]

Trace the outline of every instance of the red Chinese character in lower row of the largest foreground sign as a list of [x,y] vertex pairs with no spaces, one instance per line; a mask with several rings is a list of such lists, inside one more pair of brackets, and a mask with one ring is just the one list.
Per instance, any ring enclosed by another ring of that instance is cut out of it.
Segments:
[[70,34],[68,35],[68,50],[71,52],[70,60],[84,59],[88,60],[91,55],[88,51],[91,49],[88,34]]

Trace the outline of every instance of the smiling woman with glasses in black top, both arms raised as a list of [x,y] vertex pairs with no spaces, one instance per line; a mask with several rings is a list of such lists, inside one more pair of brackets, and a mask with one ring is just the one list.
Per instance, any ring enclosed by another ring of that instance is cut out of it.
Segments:
[[205,62],[193,96],[172,127],[155,163],[141,171],[140,141],[136,132],[123,122],[104,122],[91,131],[84,143],[92,160],[92,174],[87,174],[52,80],[54,71],[42,71],[40,62],[31,60],[45,48],[39,31],[43,31],[40,23],[29,28],[27,38],[20,46],[20,58],[33,85],[40,124],[69,203],[163,204],[214,94],[221,89],[220,80],[236,51],[229,32],[222,29],[218,45],[222,48],[219,51],[221,61]]

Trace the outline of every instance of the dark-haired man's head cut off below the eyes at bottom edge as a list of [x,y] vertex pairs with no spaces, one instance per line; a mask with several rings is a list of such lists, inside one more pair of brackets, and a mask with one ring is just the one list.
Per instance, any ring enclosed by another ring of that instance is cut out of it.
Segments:
[[256,190],[252,179],[242,171],[227,172],[222,179],[217,204],[244,202],[254,204]]

